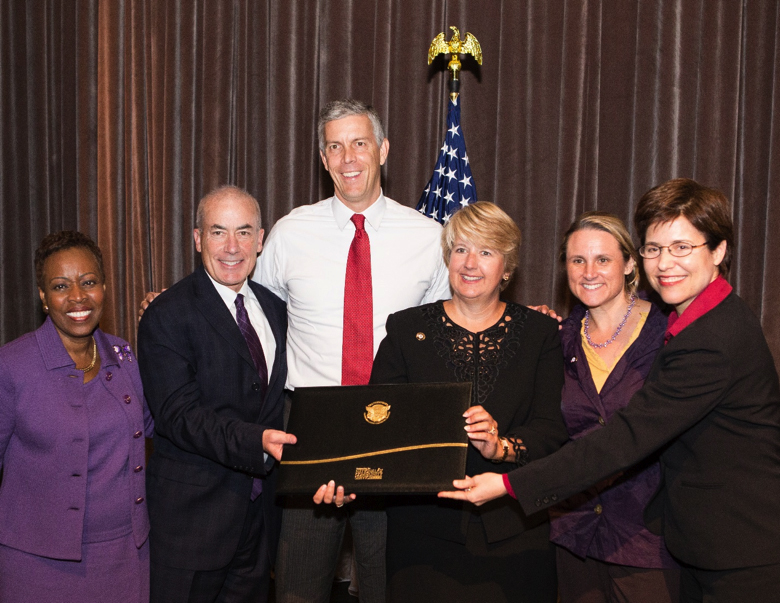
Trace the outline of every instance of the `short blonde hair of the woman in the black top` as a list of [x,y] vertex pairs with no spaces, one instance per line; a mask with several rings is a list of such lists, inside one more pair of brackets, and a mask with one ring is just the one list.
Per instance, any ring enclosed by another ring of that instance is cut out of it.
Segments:
[[520,229],[514,220],[498,205],[477,201],[456,211],[441,234],[444,261],[450,263],[455,239],[495,249],[504,256],[504,272],[509,279],[501,281],[503,291],[509,284],[520,261]]

